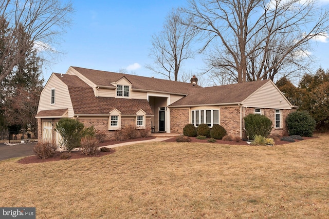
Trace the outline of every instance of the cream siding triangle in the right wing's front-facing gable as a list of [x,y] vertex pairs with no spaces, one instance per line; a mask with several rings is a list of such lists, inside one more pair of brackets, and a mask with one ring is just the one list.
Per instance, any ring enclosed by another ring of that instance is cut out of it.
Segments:
[[265,84],[243,102],[245,107],[291,109],[283,94],[271,82]]

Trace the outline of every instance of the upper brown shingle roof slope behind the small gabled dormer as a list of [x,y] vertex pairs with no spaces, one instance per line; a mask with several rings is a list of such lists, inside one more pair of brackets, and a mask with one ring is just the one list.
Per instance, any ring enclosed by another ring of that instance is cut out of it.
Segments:
[[112,87],[113,85],[111,83],[117,82],[122,77],[125,77],[132,83],[132,89],[168,92],[168,93],[176,93],[176,94],[188,94],[190,93],[189,90],[200,88],[197,85],[193,86],[193,84],[191,83],[175,82],[165,79],[123,74],[123,73],[114,73],[114,72],[86,69],[80,67],[71,67],[71,68],[78,71],[80,74],[88,78],[97,86]]

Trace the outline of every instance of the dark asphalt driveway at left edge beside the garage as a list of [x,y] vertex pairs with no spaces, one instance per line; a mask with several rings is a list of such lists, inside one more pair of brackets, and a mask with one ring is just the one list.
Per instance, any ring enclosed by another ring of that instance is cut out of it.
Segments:
[[34,155],[33,147],[36,143],[5,145],[0,144],[0,161],[7,160],[13,157]]

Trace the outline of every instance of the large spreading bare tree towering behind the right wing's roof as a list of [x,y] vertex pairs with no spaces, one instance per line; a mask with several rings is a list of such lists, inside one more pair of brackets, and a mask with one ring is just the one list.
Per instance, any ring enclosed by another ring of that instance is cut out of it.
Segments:
[[328,10],[316,0],[190,0],[184,11],[205,41],[201,51],[209,49],[210,70],[237,82],[307,70],[310,41],[329,27]]

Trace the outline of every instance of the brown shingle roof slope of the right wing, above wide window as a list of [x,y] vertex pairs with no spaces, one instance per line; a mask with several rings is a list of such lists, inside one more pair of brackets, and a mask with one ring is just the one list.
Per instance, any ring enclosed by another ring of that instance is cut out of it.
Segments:
[[170,106],[195,106],[210,104],[229,104],[244,101],[254,91],[261,88],[270,80],[238,83],[233,85],[223,85],[215,87],[205,87],[192,90],[185,96]]

